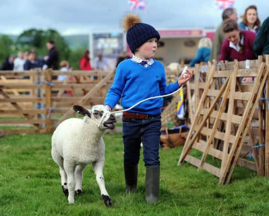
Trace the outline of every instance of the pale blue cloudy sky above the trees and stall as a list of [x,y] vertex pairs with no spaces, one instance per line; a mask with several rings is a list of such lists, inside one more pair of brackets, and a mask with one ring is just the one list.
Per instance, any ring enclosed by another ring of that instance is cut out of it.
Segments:
[[[135,11],[142,21],[155,28],[215,28],[221,22],[221,10],[215,0],[147,0],[147,8]],[[256,5],[263,21],[266,0],[235,0],[238,15]],[[129,11],[127,0],[2,0],[0,33],[20,34],[29,28],[54,28],[63,35],[93,31],[119,31],[122,17]],[[240,19],[241,20],[241,19]]]

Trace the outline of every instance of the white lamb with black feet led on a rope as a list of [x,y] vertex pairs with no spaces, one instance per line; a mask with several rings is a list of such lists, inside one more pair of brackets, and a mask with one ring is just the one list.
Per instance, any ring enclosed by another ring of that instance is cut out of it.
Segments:
[[74,193],[82,193],[83,169],[92,162],[102,199],[106,206],[111,206],[103,176],[105,143],[102,135],[106,129],[114,129],[115,116],[104,105],[93,106],[92,110],[74,105],[73,109],[84,115],[83,119],[64,120],[52,136],[52,158],[60,168],[62,190],[69,204],[73,204]]

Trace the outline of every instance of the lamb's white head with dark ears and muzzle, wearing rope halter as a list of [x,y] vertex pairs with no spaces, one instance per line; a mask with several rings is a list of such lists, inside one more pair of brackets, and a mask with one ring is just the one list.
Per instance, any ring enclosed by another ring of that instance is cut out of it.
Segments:
[[82,106],[74,105],[73,109],[81,114],[90,118],[92,121],[96,122],[100,129],[114,129],[116,118],[108,108],[104,105],[95,105],[92,110],[85,109]]

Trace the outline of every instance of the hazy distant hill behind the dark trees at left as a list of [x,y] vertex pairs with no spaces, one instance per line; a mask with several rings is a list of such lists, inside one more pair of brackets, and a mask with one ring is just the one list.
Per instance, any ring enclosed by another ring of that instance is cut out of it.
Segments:
[[[0,34],[2,35],[2,34]],[[13,42],[16,42],[18,35],[14,34],[7,34]],[[89,43],[88,43],[88,35],[87,34],[75,34],[75,35],[68,35],[68,36],[63,36],[67,45],[71,50],[76,50],[79,48],[86,48],[88,49]]]

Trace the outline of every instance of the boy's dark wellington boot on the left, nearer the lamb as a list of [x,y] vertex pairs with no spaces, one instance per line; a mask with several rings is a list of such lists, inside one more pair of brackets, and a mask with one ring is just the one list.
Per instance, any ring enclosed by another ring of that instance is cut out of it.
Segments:
[[128,166],[124,164],[125,191],[136,193],[138,184],[138,165]]

